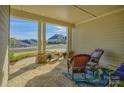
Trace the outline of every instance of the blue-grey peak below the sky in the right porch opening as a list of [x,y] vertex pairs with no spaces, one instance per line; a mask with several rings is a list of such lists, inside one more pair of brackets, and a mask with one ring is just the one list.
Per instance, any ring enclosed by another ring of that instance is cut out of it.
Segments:
[[47,40],[48,44],[65,44],[66,43],[66,36],[61,34],[55,34],[54,36],[50,37]]

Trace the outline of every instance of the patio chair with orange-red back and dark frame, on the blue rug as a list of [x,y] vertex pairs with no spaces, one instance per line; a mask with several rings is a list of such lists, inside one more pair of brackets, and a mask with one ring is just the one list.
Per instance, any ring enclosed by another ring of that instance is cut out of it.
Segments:
[[68,73],[70,73],[71,69],[72,79],[74,79],[74,74],[76,73],[85,74],[85,67],[89,60],[90,56],[87,54],[78,54],[67,60]]

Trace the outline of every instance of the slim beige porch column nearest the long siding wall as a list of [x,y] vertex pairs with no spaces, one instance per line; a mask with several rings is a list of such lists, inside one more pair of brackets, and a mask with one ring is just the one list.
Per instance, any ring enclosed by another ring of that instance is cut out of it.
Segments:
[[68,57],[72,55],[72,27],[68,27]]

